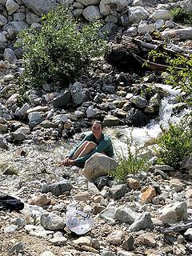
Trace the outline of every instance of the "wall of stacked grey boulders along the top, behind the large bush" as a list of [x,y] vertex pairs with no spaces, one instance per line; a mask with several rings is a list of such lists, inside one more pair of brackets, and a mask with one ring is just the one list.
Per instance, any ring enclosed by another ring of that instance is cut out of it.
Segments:
[[[145,6],[142,0],[0,0],[0,59],[14,63],[22,58],[21,50],[14,49],[18,32],[30,26],[40,29],[41,15],[58,3],[71,7],[75,18],[89,22],[104,20],[106,25],[103,29],[110,30],[110,34],[122,26],[130,36],[135,36],[152,33],[162,26],[174,26],[169,22],[169,10],[176,1],[166,2],[168,4],[159,4],[153,9]],[[188,0],[183,2],[186,8],[190,7]]]

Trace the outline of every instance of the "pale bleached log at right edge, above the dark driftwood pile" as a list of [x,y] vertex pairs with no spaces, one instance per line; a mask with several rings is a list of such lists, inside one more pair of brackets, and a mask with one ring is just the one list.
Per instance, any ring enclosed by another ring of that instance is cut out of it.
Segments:
[[165,30],[161,34],[162,36],[169,36],[170,38],[192,39],[192,27],[190,26],[178,30]]

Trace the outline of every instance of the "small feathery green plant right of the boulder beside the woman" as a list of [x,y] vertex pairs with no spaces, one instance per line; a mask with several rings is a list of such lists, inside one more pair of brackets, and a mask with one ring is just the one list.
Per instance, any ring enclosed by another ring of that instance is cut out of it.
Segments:
[[130,146],[133,146],[133,137],[131,135],[130,141],[127,140],[127,155],[125,152],[121,154],[116,152],[118,156],[119,165],[114,171],[110,171],[109,175],[111,177],[117,178],[123,182],[126,181],[126,178],[129,174],[137,174],[139,171],[150,169],[150,165],[147,162],[146,157],[138,157],[138,147],[135,145],[136,149],[134,153],[131,152]]

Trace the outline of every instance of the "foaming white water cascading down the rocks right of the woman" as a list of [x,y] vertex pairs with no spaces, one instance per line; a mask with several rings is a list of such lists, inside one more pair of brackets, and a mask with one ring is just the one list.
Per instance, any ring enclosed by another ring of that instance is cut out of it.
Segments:
[[161,126],[168,128],[169,122],[178,123],[181,118],[190,111],[189,109],[184,109],[179,114],[173,114],[173,107],[178,103],[175,100],[175,96],[180,94],[180,90],[174,90],[170,86],[165,85],[163,85],[163,90],[169,92],[170,95],[167,98],[162,99],[158,118],[151,120],[147,126],[142,128],[131,128],[126,126],[122,126],[121,128],[118,127],[116,134],[122,134],[120,138],[113,136],[113,130],[107,130],[107,134],[110,134],[113,138],[116,152],[126,155],[127,139],[129,140],[131,137],[133,138],[133,144],[130,147],[131,150],[134,150],[135,145],[138,147],[143,146],[146,142],[158,137],[158,134],[162,131]]

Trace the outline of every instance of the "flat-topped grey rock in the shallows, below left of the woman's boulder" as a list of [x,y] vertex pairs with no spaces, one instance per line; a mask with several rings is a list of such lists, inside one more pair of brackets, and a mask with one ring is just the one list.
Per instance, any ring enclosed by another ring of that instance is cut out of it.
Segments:
[[66,191],[70,191],[72,188],[73,186],[71,183],[67,179],[63,179],[61,182],[56,182],[50,185],[43,184],[41,192],[51,192],[58,197],[60,194],[63,194]]

